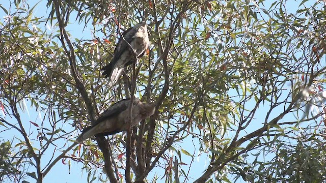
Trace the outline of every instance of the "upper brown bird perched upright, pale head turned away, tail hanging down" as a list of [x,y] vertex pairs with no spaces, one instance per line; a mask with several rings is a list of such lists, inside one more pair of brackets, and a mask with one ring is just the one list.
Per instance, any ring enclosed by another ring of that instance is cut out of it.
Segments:
[[[110,78],[110,86],[118,81],[124,67],[136,62],[137,58],[145,54],[150,44],[145,21],[127,29],[122,36],[125,41],[122,38],[119,39],[111,63],[101,68],[104,71],[102,75]],[[134,52],[126,42],[129,43]]]

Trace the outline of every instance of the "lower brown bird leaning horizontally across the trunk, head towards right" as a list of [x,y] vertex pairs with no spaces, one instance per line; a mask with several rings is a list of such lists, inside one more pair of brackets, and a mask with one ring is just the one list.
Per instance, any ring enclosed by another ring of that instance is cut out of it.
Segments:
[[[121,100],[105,110],[96,120],[94,125],[85,128],[82,134],[76,139],[77,143],[93,135],[112,135],[122,131],[127,131],[145,119],[154,114],[155,103],[142,103],[138,98],[133,100],[132,120],[130,120],[130,99]],[[130,124],[130,121],[132,123]]]

